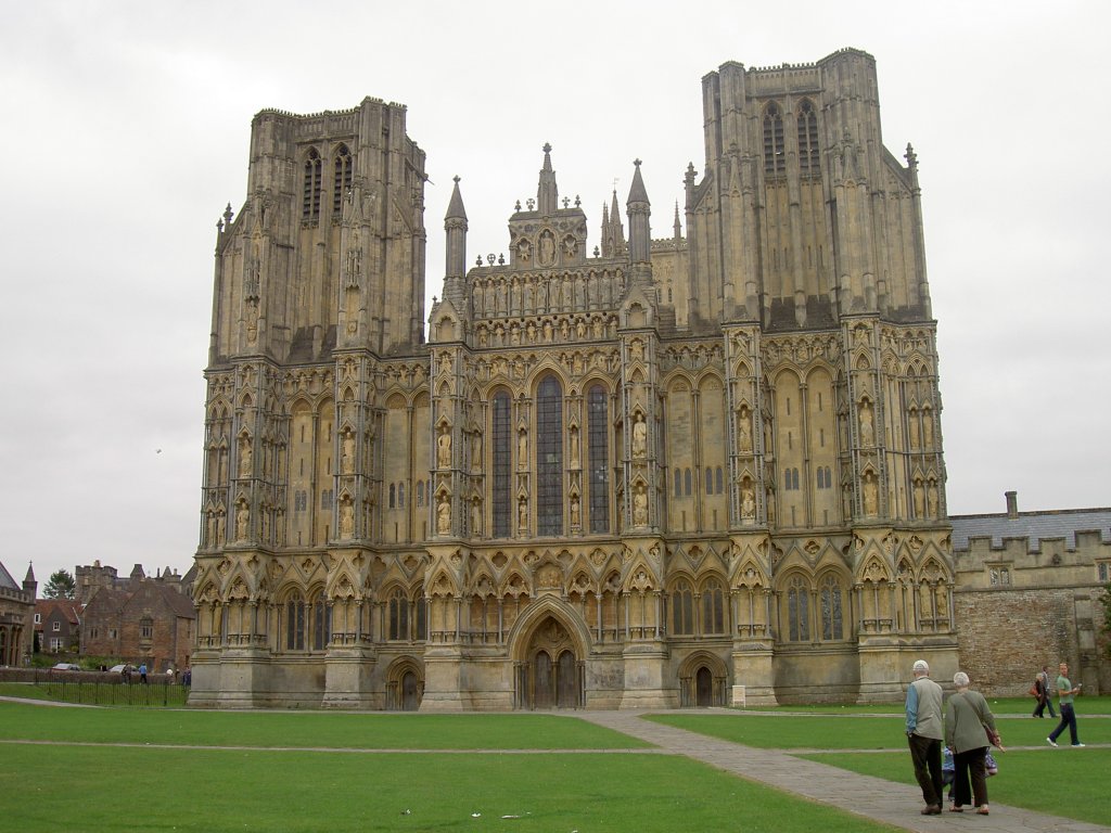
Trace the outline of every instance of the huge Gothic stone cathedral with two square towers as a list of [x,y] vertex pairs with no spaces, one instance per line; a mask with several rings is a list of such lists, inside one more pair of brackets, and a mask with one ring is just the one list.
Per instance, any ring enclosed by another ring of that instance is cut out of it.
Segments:
[[914,659],[952,674],[918,167],[877,89],[855,49],[707,74],[664,237],[639,160],[591,229],[544,145],[471,264],[457,178],[430,310],[406,108],[258,113],[217,238],[190,703],[881,702]]

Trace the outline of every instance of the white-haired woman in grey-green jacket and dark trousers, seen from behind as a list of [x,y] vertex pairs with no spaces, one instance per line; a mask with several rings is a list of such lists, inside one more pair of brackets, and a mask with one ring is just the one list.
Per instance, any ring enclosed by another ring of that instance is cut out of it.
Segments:
[[[949,697],[945,709],[945,745],[953,751],[953,803],[949,810],[964,812],[972,803],[977,813],[988,815],[988,737],[999,743],[995,717],[988,701],[978,691],[969,691],[969,675],[963,671],[953,674],[957,693]],[[969,776],[972,790],[969,790]]]

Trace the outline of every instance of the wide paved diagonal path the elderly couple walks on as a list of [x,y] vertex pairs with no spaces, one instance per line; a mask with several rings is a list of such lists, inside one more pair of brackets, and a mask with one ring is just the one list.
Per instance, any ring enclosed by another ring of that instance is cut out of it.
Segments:
[[[677,754],[758,781],[769,786],[803,795],[821,804],[863,815],[877,822],[913,831],[968,830],[977,833],[1107,833],[1111,827],[1035,813],[991,802],[991,815],[942,812],[920,815],[922,793],[918,786],[899,784],[870,775],[858,775],[817,761],[807,761],[778,750],[742,746],[717,737],[688,732],[641,720],[644,711],[578,712],[575,716],[642,741],[658,744]],[[704,713],[704,710],[703,710]],[[718,713],[717,711],[714,713]],[[728,710],[720,713],[727,714]],[[738,715],[744,720],[743,715]],[[907,766],[910,769],[910,753]]]

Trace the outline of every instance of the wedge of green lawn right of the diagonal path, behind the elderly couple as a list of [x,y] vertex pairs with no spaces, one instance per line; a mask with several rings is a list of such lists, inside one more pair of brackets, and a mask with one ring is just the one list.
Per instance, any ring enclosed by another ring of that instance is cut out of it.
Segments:
[[[1081,739],[1087,740],[1084,734]],[[888,781],[914,783],[910,755],[902,752],[802,756]],[[988,779],[989,803],[1011,804],[1093,824],[1107,824],[1111,819],[1111,794],[1107,789],[1111,750],[1045,746],[1044,751],[997,753],[995,760],[999,761],[999,775]]]

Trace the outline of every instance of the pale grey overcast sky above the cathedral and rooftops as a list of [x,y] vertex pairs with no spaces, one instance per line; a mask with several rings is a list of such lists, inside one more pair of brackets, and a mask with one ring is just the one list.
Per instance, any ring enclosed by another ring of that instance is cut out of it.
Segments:
[[[632,160],[670,234],[703,169],[701,78],[875,57],[919,155],[951,514],[1111,505],[1103,2],[0,0],[0,561],[183,572],[197,548],[216,222],[252,116],[408,106],[427,287],[452,177],[468,258],[506,251],[551,142],[590,245]],[[627,221],[625,221],[627,222]],[[1103,247],[1103,249],[1101,249]],[[1102,260],[1101,260],[1102,258]],[[428,305],[426,308],[427,317]]]

